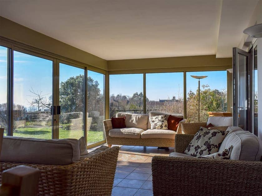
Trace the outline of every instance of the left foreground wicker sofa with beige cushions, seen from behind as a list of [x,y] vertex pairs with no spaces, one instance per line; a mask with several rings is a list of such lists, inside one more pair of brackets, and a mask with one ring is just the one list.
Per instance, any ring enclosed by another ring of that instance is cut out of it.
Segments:
[[3,170],[26,165],[40,170],[37,195],[111,195],[119,147],[102,146],[81,156],[77,140],[8,139],[3,140],[0,183]]

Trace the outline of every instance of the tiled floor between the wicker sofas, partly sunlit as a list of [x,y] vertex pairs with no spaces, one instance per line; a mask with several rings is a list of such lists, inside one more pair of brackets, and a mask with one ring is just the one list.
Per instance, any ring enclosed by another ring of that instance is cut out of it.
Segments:
[[173,148],[119,146],[112,196],[153,195],[151,161],[153,156],[168,156]]

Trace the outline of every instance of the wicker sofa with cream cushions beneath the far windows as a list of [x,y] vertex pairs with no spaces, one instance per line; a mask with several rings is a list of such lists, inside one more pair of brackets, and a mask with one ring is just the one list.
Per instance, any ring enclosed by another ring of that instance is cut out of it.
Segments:
[[115,145],[132,146],[155,146],[174,147],[175,134],[181,133],[181,124],[187,120],[180,121],[177,132],[173,130],[155,129],[151,130],[149,117],[156,115],[174,115],[183,118],[180,114],[167,114],[160,112],[150,112],[149,114],[131,114],[119,112],[116,117],[125,117],[125,129],[113,129],[111,119],[104,120],[104,133],[109,147]]

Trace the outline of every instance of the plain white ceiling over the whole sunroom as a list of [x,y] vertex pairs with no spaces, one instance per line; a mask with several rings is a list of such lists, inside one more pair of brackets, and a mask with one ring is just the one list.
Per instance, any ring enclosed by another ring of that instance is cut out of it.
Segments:
[[258,0],[0,0],[0,15],[106,60],[231,57]]

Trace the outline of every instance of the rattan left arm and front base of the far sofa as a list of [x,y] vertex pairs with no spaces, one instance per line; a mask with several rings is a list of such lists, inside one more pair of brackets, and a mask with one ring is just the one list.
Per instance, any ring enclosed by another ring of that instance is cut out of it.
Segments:
[[112,129],[111,119],[104,120],[104,133],[107,144],[114,145],[131,145],[131,146],[155,146],[155,147],[174,147],[175,139],[162,138],[119,138],[110,137],[109,130]]

